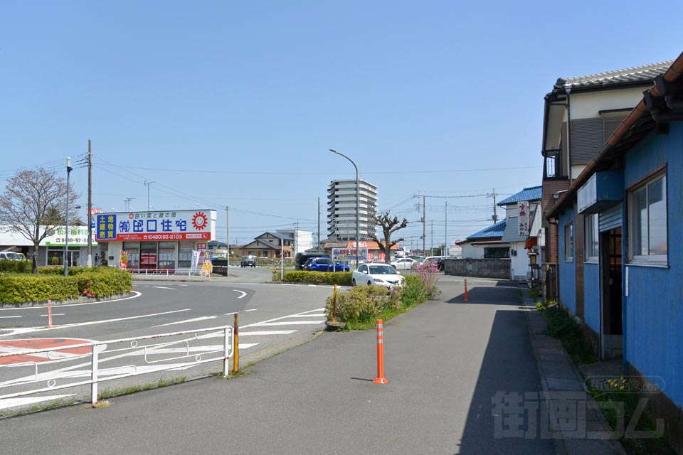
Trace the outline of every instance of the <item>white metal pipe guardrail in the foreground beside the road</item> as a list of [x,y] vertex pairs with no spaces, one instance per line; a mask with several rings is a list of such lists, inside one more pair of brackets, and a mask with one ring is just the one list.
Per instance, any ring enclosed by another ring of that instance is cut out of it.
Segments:
[[[167,338],[188,335],[189,337],[179,340],[166,341]],[[206,340],[210,338],[223,338],[223,343],[206,344]],[[223,326],[119,340],[90,341],[53,348],[16,348],[16,352],[0,354],[0,390],[8,387],[29,390],[0,395],[0,400],[90,385],[90,402],[94,405],[100,382],[164,370],[186,369],[218,360],[223,361],[223,375],[227,376],[228,359],[233,355],[232,340],[233,328]],[[83,363],[84,358],[90,359]],[[12,363],[13,360],[16,362]],[[138,360],[139,365],[129,364],[129,360]],[[103,367],[107,363],[111,365],[110,368]],[[8,370],[18,371],[19,377],[8,379]],[[89,379],[78,380],[83,377]],[[46,387],[31,388],[43,381]]]

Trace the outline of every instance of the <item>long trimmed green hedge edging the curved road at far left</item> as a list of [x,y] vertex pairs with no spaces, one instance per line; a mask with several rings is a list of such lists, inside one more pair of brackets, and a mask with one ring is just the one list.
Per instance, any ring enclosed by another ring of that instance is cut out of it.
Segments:
[[43,267],[39,274],[0,274],[0,304],[104,297],[132,289],[131,275],[121,269],[73,267],[75,270],[72,274],[69,269],[68,277],[45,269],[51,267]]

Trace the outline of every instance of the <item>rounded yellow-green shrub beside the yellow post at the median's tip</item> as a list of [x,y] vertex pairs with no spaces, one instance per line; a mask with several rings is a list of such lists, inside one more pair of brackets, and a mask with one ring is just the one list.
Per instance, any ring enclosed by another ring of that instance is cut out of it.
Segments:
[[[325,314],[332,319],[333,296],[327,297]],[[383,286],[357,286],[337,294],[338,321],[371,321],[384,309],[401,307],[401,291]]]

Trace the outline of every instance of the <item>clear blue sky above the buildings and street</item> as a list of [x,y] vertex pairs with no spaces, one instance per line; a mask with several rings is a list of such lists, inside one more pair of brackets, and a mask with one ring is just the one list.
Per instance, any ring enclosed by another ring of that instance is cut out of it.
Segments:
[[[327,185],[355,175],[334,148],[408,218],[408,246],[417,194],[428,244],[446,217],[451,243],[490,223],[493,188],[540,185],[558,77],[683,50],[643,2],[460,3],[2,2],[0,183],[36,166],[65,176],[92,139],[103,210],[144,210],[152,181],[155,209],[217,209],[219,240],[229,205],[241,244],[297,221],[316,231],[320,198],[325,237]],[[85,207],[85,168],[71,178]]]

